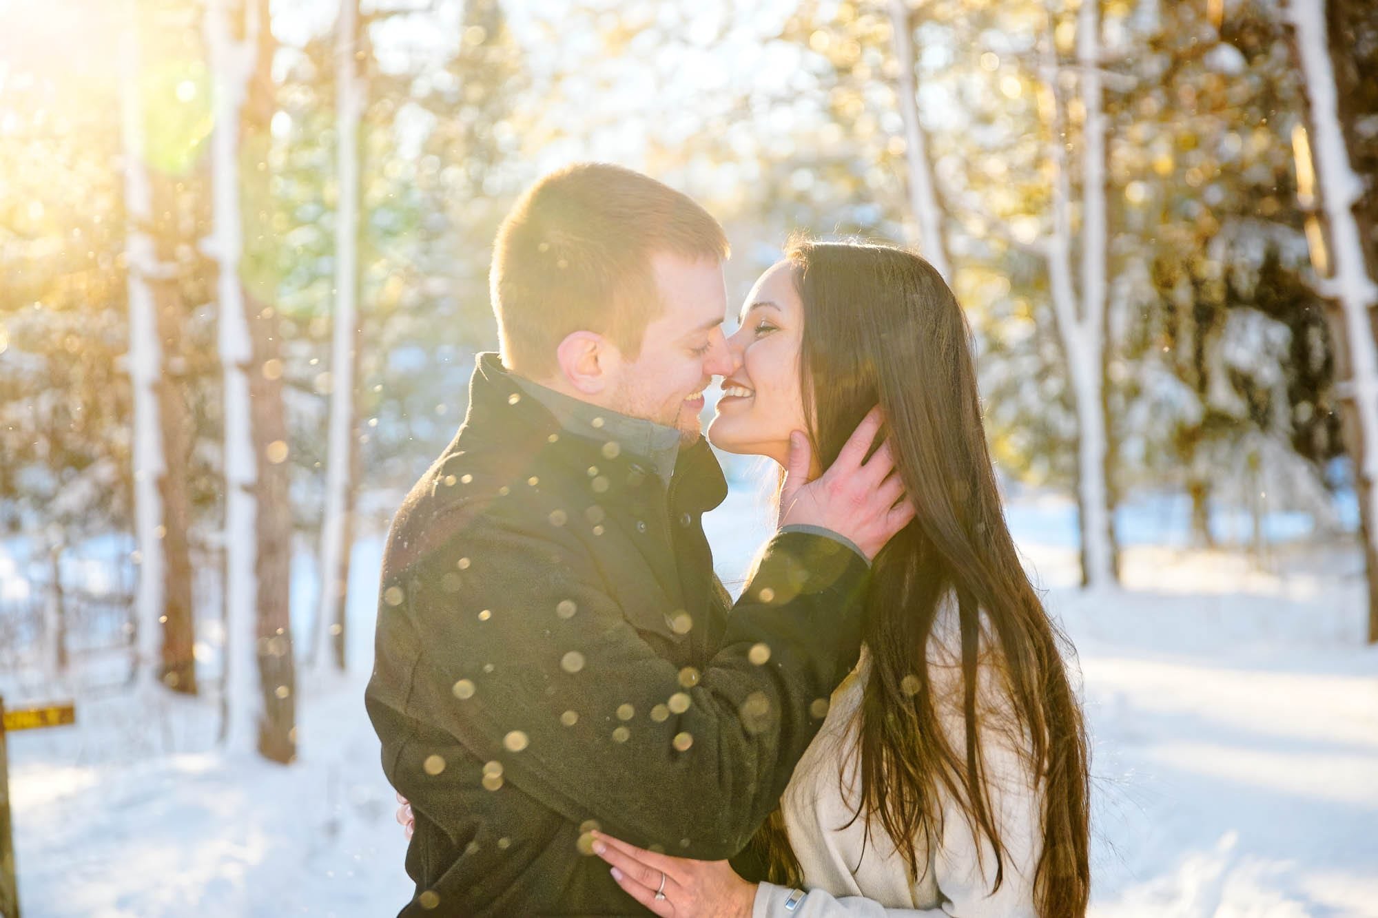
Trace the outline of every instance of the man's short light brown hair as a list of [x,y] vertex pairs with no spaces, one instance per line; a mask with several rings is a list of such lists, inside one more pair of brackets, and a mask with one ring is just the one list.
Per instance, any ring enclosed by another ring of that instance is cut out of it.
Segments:
[[728,258],[728,237],[688,194],[606,163],[546,175],[503,219],[489,272],[504,363],[546,378],[576,331],[608,336],[628,358],[663,309],[650,259]]

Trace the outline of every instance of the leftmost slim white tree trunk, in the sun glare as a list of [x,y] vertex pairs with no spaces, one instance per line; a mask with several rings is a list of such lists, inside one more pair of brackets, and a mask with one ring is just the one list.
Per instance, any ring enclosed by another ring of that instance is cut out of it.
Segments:
[[134,528],[139,551],[135,594],[138,622],[136,681],[147,691],[161,656],[164,608],[163,495],[167,471],[157,386],[163,375],[157,309],[147,278],[157,269],[153,237],[153,190],[145,164],[143,105],[139,88],[138,4],[128,0],[120,34],[120,108],[124,146],[125,274],[130,300],[130,382],[134,389]]

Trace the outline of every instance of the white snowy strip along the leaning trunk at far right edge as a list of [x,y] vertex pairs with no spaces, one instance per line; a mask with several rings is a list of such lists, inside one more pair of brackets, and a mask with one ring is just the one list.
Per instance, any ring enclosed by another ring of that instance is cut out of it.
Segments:
[[[1378,305],[1378,284],[1368,276],[1355,205],[1363,196],[1363,182],[1355,174],[1339,124],[1335,72],[1326,34],[1324,0],[1291,0],[1287,10],[1294,26],[1310,103],[1313,170],[1320,186],[1320,205],[1330,227],[1331,252],[1322,255],[1333,272],[1322,283],[1322,294],[1339,302],[1349,345],[1349,397],[1355,402],[1361,456],[1355,474],[1367,488],[1364,507],[1368,520],[1370,557],[1378,549],[1378,343],[1374,340],[1371,309]],[[1320,245],[1324,241],[1320,240]],[[1317,265],[1322,267],[1322,265]],[[1372,629],[1371,629],[1372,630]]]

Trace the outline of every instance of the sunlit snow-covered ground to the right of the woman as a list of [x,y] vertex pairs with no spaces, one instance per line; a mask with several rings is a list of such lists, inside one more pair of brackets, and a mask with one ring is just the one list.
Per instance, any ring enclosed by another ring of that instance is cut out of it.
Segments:
[[1056,591],[1094,736],[1100,915],[1378,915],[1378,653],[1334,573],[1137,550]]

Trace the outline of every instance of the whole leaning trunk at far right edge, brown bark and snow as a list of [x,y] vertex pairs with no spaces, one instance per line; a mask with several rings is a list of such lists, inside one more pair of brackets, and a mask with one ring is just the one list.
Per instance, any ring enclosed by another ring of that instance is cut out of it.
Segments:
[[1330,302],[1339,351],[1337,379],[1359,493],[1372,644],[1378,642],[1378,343],[1372,323],[1372,307],[1378,305],[1378,243],[1361,207],[1364,183],[1353,167],[1342,114],[1346,92],[1356,87],[1341,85],[1339,77],[1355,68],[1335,66],[1349,50],[1342,34],[1330,33],[1330,28],[1346,21],[1346,12],[1359,10],[1335,0],[1328,6],[1327,10],[1326,0],[1291,0],[1287,11],[1310,123],[1309,132],[1298,125],[1293,146],[1301,204],[1313,208],[1319,197],[1324,218],[1323,227],[1317,215],[1310,215],[1306,237],[1322,277],[1320,294]]

